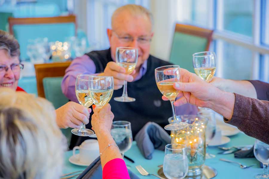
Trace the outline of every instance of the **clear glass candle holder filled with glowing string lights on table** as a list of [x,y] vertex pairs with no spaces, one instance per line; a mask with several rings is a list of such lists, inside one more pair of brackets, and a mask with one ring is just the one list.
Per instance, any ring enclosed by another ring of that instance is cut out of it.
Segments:
[[[198,115],[178,115],[180,122],[189,125],[184,129],[171,131],[171,143],[183,144],[187,149],[189,170],[187,176],[198,176],[202,174],[206,154],[206,125],[207,118]],[[173,117],[168,119],[173,122]]]

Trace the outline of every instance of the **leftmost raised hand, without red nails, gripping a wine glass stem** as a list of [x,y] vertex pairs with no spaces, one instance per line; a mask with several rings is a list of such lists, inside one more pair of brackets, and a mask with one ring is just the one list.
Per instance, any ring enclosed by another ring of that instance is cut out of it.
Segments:
[[79,129],[82,123],[89,123],[91,109],[70,101],[56,109],[55,112],[59,128],[66,129],[71,127]]

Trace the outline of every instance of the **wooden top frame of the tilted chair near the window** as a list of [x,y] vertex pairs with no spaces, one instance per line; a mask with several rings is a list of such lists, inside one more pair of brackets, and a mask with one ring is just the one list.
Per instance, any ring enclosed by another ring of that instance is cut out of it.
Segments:
[[207,46],[206,46],[205,51],[209,50],[210,42],[212,41],[213,30],[205,29],[205,28],[201,28],[197,26],[192,26],[192,25],[176,24],[175,32],[207,38]]

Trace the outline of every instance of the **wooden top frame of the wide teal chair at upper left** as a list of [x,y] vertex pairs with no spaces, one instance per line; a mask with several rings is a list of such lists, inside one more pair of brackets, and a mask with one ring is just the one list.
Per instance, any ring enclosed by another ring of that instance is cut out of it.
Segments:
[[71,23],[75,24],[77,34],[76,16],[57,16],[57,17],[33,17],[33,18],[8,18],[9,32],[13,35],[13,25],[15,24],[56,24],[56,23]]

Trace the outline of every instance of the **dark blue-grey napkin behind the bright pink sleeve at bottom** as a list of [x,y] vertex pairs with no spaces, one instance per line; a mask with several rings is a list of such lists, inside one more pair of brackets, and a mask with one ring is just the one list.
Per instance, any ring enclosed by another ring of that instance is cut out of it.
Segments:
[[[132,171],[128,169],[131,179],[140,179]],[[100,179],[102,178],[102,165],[100,156],[95,159],[78,177],[77,179]]]

